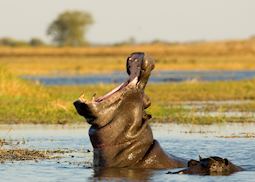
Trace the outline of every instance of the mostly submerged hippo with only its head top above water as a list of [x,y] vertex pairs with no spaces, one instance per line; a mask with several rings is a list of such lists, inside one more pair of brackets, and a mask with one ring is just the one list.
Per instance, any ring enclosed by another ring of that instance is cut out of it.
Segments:
[[218,156],[201,158],[199,156],[199,161],[190,160],[186,169],[168,172],[168,174],[230,175],[241,170],[243,170],[241,167],[236,166],[226,158],[223,159]]

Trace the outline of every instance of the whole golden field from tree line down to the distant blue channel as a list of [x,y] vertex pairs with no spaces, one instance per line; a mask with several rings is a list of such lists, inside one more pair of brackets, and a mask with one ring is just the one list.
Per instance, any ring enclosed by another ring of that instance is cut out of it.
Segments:
[[0,47],[0,64],[18,75],[69,75],[124,70],[126,57],[144,51],[157,70],[254,70],[255,40],[83,48]]

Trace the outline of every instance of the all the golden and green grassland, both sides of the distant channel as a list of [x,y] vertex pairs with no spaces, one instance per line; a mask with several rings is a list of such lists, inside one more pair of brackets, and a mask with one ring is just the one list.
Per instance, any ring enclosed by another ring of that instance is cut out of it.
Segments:
[[[74,123],[84,119],[72,102],[116,85],[44,87],[20,75],[72,75],[125,70],[133,51],[156,58],[157,70],[254,70],[255,41],[85,48],[0,48],[0,123]],[[153,122],[254,122],[255,80],[149,84]],[[211,102],[213,101],[213,102]],[[233,102],[232,102],[233,101]],[[228,113],[244,113],[228,115]],[[202,113],[202,114],[201,114]],[[217,114],[213,114],[217,113]],[[248,114],[247,114],[248,113]]]

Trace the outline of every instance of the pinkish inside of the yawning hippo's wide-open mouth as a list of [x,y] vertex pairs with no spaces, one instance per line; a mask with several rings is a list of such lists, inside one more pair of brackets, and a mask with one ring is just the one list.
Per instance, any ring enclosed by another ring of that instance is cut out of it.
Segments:
[[112,91],[108,92],[104,96],[96,98],[94,101],[101,102],[129,85],[132,85],[132,86],[137,85],[139,83],[139,79],[142,72],[143,59],[144,59],[144,53],[138,52],[138,53],[131,54],[127,58],[127,64],[126,64],[127,73],[129,75],[129,78],[127,79],[127,81],[123,82],[118,87],[114,88]]

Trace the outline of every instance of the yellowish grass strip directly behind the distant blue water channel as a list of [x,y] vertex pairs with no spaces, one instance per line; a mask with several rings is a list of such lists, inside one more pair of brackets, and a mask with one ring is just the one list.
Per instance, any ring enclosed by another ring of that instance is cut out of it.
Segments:
[[[127,54],[128,55],[128,54]],[[78,57],[0,57],[0,64],[18,75],[77,75],[125,70],[127,55]],[[155,56],[154,56],[155,57]],[[157,70],[253,70],[255,56],[155,57]]]

